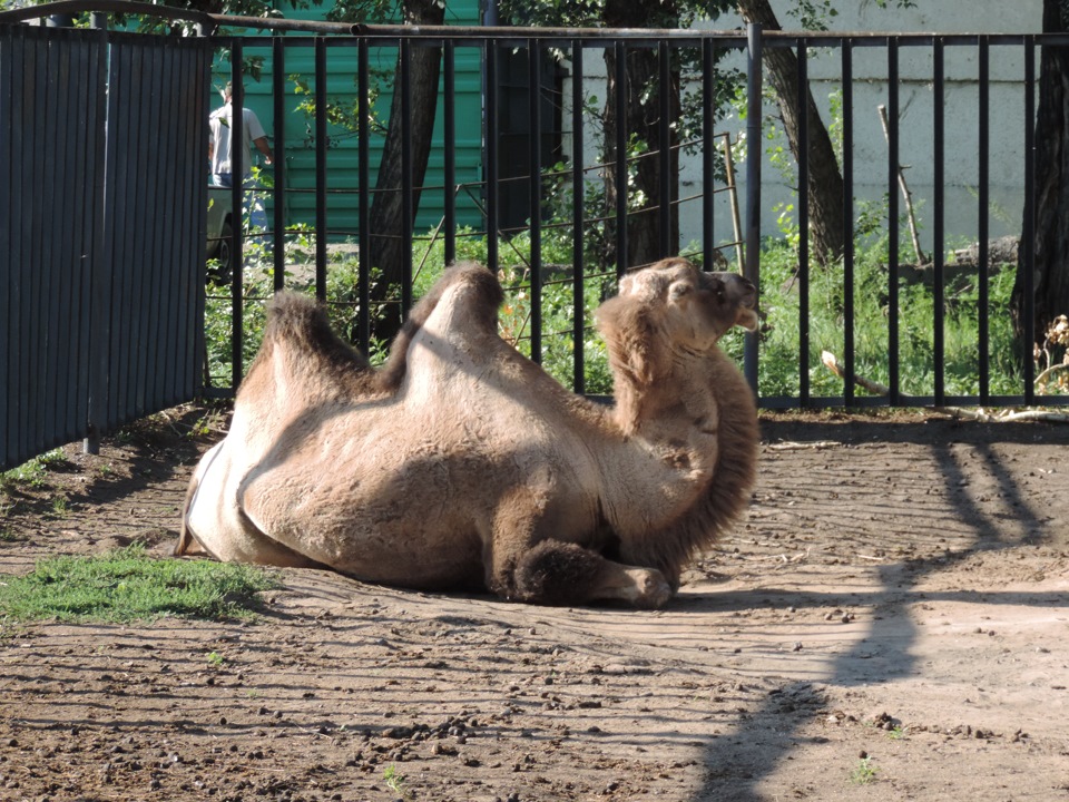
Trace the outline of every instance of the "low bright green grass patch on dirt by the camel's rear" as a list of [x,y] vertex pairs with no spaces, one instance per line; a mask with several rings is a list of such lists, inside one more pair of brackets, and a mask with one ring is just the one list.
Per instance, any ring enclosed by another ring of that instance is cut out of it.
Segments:
[[101,556],[52,557],[32,574],[0,581],[8,622],[251,619],[258,594],[279,587],[258,568],[229,563],[153,559],[141,546]]

